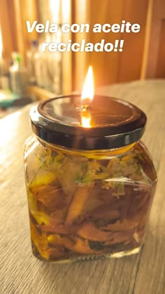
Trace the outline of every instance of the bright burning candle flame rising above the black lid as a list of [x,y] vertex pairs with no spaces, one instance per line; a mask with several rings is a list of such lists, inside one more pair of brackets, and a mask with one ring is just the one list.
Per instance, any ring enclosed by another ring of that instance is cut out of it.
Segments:
[[81,102],[82,105],[89,105],[94,97],[94,79],[92,67],[89,67],[87,76],[85,79],[84,88],[82,90]]

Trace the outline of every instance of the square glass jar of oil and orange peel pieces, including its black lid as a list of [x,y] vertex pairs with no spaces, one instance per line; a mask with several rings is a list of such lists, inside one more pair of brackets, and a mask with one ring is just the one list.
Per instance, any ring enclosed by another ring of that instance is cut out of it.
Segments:
[[90,127],[80,96],[31,109],[25,146],[32,250],[49,262],[138,253],[157,175],[139,140],[146,116],[123,100],[95,96]]

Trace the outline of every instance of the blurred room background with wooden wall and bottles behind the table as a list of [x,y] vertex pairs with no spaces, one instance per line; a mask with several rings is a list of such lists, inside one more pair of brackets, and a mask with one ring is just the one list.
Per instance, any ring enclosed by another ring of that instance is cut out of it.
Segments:
[[[0,117],[27,103],[81,91],[89,65],[95,87],[137,79],[165,77],[164,0],[0,0]],[[139,23],[141,32],[38,34],[27,32],[26,20]],[[122,53],[41,53],[44,41],[92,43],[124,39]]]

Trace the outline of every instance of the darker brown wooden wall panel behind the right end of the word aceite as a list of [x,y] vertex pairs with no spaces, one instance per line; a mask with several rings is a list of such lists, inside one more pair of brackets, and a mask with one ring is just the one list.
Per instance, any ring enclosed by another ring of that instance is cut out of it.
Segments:
[[124,50],[119,55],[117,82],[140,79],[145,41],[145,25],[148,13],[148,0],[125,0],[122,19],[139,23],[138,33],[124,33]]

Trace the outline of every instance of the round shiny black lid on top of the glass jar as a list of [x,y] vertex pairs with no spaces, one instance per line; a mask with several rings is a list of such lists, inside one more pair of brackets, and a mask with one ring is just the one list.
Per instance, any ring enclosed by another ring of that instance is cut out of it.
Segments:
[[60,96],[34,106],[31,125],[42,140],[84,150],[124,147],[144,133],[144,112],[124,100],[95,95],[87,112],[89,128],[82,126],[80,95]]

